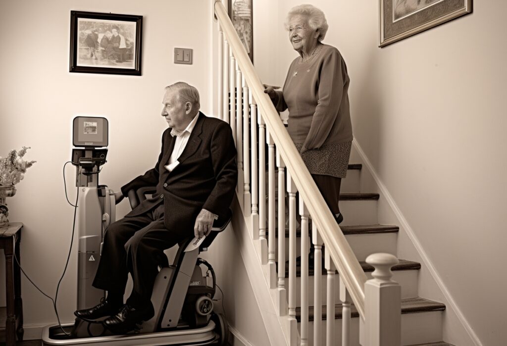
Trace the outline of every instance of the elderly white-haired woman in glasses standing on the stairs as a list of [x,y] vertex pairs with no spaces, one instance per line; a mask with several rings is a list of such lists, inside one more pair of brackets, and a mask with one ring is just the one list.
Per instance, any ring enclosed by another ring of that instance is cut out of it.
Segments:
[[299,57],[288,69],[283,91],[266,86],[264,92],[278,111],[288,108],[288,133],[340,223],[340,184],[352,144],[347,66],[335,47],[321,42],[328,31],[321,10],[296,6],[288,12],[285,28]]

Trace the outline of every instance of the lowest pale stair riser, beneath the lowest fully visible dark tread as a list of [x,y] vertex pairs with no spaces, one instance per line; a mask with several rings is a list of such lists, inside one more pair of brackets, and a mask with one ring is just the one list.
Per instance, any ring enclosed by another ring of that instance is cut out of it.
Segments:
[[[322,321],[322,344],[325,345],[326,322]],[[342,320],[335,320],[336,345],[341,345]],[[301,332],[301,324],[298,323]],[[359,318],[352,318],[350,324],[350,345],[359,345]],[[438,342],[442,340],[442,312],[428,312],[402,315],[402,345]],[[313,322],[308,324],[308,344],[313,346]]]

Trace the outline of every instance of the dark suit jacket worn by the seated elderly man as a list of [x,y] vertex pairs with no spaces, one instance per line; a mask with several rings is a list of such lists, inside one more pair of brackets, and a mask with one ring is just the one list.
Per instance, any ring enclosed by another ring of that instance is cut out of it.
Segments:
[[191,236],[201,209],[219,218],[227,214],[238,177],[232,131],[226,122],[206,117],[202,112],[196,117],[199,118],[187,146],[177,159],[179,165],[171,172],[164,167],[176,140],[168,128],[162,135],[162,151],[155,167],[122,186],[125,197],[130,189],[157,186],[157,193],[126,217],[145,213],[163,201],[166,228]]

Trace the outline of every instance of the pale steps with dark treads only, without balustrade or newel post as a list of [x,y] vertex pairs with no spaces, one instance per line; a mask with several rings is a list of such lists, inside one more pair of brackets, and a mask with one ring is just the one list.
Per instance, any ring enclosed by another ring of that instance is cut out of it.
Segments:
[[[365,259],[368,255],[376,252],[386,252],[396,255],[397,246],[396,238],[399,232],[399,227],[395,225],[381,225],[377,222],[377,201],[378,194],[360,193],[360,171],[363,168],[361,164],[349,164],[347,178],[342,181],[342,193],[340,194],[340,209],[344,214],[344,221],[340,228],[345,235],[348,243],[350,244],[354,254],[363,270],[367,274],[368,279],[371,279],[371,273],[374,267],[366,263]],[[349,217],[349,215],[351,217]],[[360,215],[357,216],[357,215]],[[366,224],[368,223],[368,224]],[[297,231],[298,238],[301,237],[301,232]],[[285,228],[285,238],[288,239],[289,230]],[[300,241],[298,242],[300,243]],[[325,248],[325,246],[324,246]],[[325,251],[325,250],[324,250]],[[324,255],[322,255],[322,263],[324,263]],[[297,287],[301,287],[301,260],[297,261],[296,281]],[[312,263],[310,260],[309,263]],[[285,266],[285,285],[288,285],[288,261]],[[392,279],[398,282],[401,286],[402,298],[402,345],[432,345],[432,346],[449,346],[450,344],[440,341],[442,340],[442,312],[445,311],[445,304],[427,300],[418,296],[418,271],[421,264],[418,262],[401,259],[399,263],[391,267],[393,272]],[[314,267],[310,265],[308,270],[309,275],[309,321],[313,322],[313,288],[314,288]],[[324,269],[322,264],[321,271],[321,296],[327,295],[327,281],[328,271]],[[336,272],[338,274],[338,272]],[[298,290],[297,296],[300,296]],[[335,290],[335,299],[339,301],[339,290]],[[301,322],[301,301],[297,301],[298,308],[296,309],[296,319],[298,326]],[[338,332],[336,337],[341,339],[340,331],[342,330],[342,304],[335,305],[335,330]],[[351,335],[359,335],[359,314],[351,307]],[[322,320],[327,320],[325,307],[322,311]],[[313,325],[310,324],[310,331],[313,330]],[[325,336],[325,323],[322,323],[322,335]],[[313,334],[310,332],[309,340],[313,340]],[[325,344],[325,337],[322,338],[322,344]],[[359,345],[358,338],[352,338],[351,345]],[[312,342],[309,345],[313,345]]]

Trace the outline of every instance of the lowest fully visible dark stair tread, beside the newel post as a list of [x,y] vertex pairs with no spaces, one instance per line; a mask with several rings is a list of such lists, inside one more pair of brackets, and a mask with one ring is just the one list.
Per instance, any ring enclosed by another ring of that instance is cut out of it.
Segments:
[[[326,306],[325,302],[323,302],[322,306],[322,320],[326,319]],[[439,303],[437,301],[432,301],[424,298],[408,298],[402,299],[402,314],[413,314],[413,313],[422,313],[422,312],[431,312],[431,311],[444,311],[445,304]],[[351,306],[351,316],[359,317],[355,306],[352,304]],[[342,304],[335,305],[335,318],[342,318]],[[301,322],[301,308],[296,307],[296,320]],[[313,321],[313,306],[308,307],[308,320]]]

